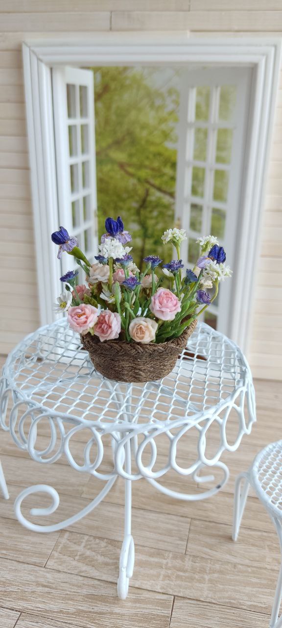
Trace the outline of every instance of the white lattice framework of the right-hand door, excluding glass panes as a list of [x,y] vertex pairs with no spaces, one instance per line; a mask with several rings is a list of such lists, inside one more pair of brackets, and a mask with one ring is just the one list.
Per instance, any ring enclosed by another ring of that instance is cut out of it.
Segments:
[[[241,181],[244,173],[244,155],[249,121],[249,102],[251,95],[251,67],[222,68],[203,66],[184,72],[180,87],[180,112],[179,112],[179,141],[177,147],[177,178],[175,195],[175,215],[177,224],[180,224],[187,232],[187,240],[182,244],[181,256],[184,264],[188,261],[189,238],[197,239],[201,236],[218,234],[212,232],[210,218],[212,207],[224,208],[226,212],[226,225],[224,239],[219,242],[227,252],[227,263],[231,268],[236,266],[236,254],[240,234],[241,217]],[[233,120],[219,121],[217,111],[221,85],[236,86],[236,104],[234,106]],[[195,116],[196,89],[204,86],[211,89],[209,102],[208,121],[197,121]],[[206,160],[194,160],[194,127],[201,126],[207,129],[207,154]],[[234,126],[235,125],[235,126]],[[216,162],[217,128],[233,128],[231,161],[226,164]],[[236,129],[236,131],[235,131]],[[193,166],[205,168],[204,193],[202,197],[193,197],[191,190]],[[217,169],[230,171],[227,187],[227,199],[224,203],[213,200],[214,173]],[[191,204],[202,205],[202,229],[194,232],[190,228]],[[204,226],[205,225],[205,226]],[[195,260],[194,260],[195,261]],[[231,333],[233,308],[233,281],[224,281],[219,288],[219,303],[212,304],[207,314],[214,313],[217,317],[217,329],[226,335]],[[204,315],[202,315],[204,320]]]

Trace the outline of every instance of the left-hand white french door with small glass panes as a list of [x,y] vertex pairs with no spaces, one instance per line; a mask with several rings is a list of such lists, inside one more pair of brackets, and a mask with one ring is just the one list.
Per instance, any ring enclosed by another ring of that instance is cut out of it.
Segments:
[[[59,223],[94,262],[98,229],[93,72],[54,68],[52,85]],[[75,259],[63,255],[61,272],[74,268]]]

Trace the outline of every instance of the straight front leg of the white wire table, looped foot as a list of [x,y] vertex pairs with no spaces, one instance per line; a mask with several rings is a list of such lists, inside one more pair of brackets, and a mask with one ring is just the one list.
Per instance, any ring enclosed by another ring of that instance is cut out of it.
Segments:
[[[131,474],[131,440],[128,438],[125,443],[125,470]],[[134,567],[134,541],[131,534],[132,518],[132,480],[125,480],[125,519],[124,538],[120,551],[120,575],[117,582],[118,597],[121,600],[127,598],[129,579],[133,574]]]

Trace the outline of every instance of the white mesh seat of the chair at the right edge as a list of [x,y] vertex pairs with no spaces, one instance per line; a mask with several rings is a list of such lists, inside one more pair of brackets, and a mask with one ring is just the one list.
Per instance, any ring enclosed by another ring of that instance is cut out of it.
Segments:
[[282,516],[282,440],[271,443],[254,460],[252,479],[259,498],[273,514]]

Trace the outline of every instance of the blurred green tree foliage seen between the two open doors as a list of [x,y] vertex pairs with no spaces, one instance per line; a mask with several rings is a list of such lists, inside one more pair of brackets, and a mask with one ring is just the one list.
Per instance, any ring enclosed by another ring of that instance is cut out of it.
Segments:
[[160,239],[174,225],[179,91],[176,70],[93,68],[100,236],[105,218],[121,215],[135,262],[170,261]]

